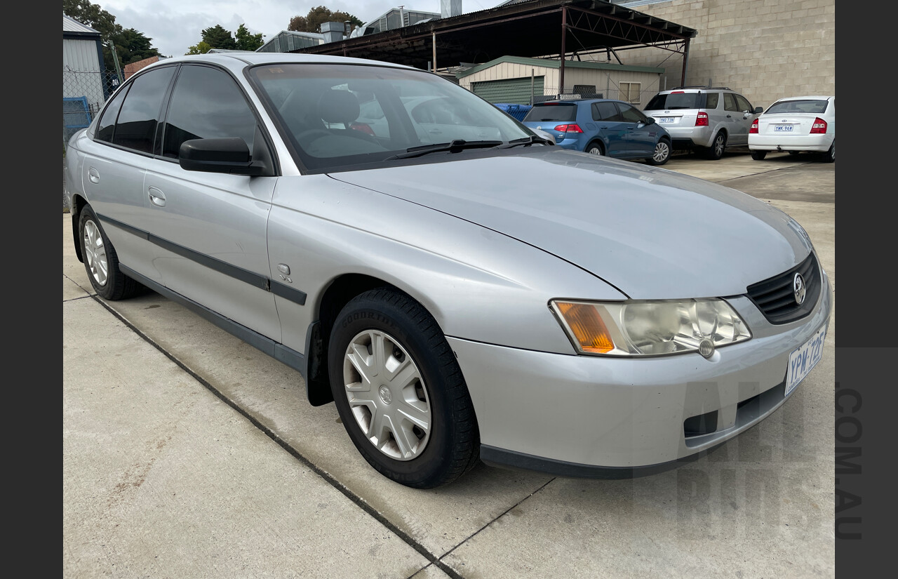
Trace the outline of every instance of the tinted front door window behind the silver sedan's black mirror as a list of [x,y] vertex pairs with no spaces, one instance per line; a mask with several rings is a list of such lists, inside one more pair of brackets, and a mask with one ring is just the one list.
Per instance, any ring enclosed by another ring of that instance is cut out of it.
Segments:
[[239,136],[252,151],[256,117],[233,78],[209,66],[181,66],[165,117],[163,156],[190,139]]

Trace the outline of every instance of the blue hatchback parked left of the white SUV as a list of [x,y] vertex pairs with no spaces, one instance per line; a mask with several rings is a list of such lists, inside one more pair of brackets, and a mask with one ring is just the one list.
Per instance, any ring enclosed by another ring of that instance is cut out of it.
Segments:
[[522,122],[550,133],[556,145],[573,151],[645,159],[651,165],[663,165],[671,155],[671,136],[665,127],[623,101],[540,102]]

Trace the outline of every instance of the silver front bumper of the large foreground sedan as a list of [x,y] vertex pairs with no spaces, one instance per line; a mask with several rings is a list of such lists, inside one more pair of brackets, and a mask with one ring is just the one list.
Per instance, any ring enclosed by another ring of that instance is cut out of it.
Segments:
[[[814,311],[781,326],[748,298],[728,299],[753,338],[707,360],[559,355],[448,338],[477,413],[481,459],[560,476],[621,478],[708,452],[788,398],[789,354],[830,319],[825,274],[823,282]],[[687,436],[687,420],[707,434]]]

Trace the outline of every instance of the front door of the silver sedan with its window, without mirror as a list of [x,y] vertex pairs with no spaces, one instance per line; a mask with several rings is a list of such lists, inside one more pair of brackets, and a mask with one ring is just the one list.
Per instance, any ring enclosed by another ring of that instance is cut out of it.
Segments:
[[253,150],[259,120],[240,85],[214,66],[183,65],[146,171],[163,285],[279,342],[266,229],[277,177],[185,171],[181,143],[239,136]]

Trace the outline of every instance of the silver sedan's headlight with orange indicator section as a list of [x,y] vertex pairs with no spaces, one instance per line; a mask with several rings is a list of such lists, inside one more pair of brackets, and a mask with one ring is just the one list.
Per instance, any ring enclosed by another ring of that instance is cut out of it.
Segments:
[[550,308],[581,354],[665,355],[699,352],[705,357],[752,337],[745,322],[718,298],[574,302]]

